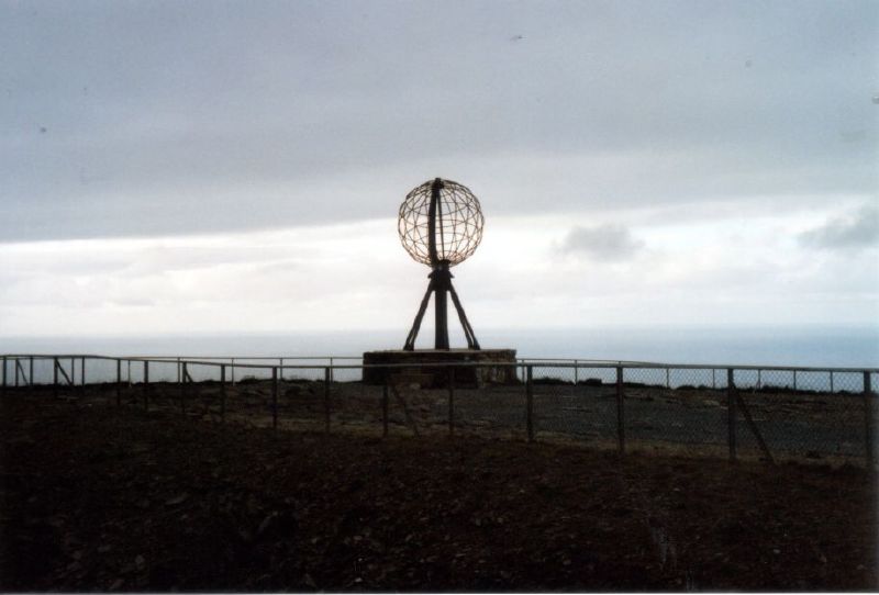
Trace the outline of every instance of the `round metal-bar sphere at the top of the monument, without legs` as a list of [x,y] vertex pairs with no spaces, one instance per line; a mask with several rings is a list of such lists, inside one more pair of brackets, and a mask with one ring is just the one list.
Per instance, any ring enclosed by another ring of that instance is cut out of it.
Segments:
[[[407,194],[400,205],[397,231],[409,256],[427,266],[430,250],[431,191],[434,180],[426,181]],[[436,204],[434,237],[437,261],[449,267],[463,262],[482,240],[482,209],[479,200],[466,186],[442,180]]]

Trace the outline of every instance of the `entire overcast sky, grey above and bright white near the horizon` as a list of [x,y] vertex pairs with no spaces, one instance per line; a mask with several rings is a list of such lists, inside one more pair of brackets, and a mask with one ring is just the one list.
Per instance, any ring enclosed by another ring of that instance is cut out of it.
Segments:
[[0,335],[875,324],[879,2],[0,2]]

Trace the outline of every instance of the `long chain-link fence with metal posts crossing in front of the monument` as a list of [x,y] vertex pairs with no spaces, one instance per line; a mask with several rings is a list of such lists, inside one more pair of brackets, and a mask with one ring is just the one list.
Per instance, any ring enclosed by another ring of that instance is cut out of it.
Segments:
[[[515,373],[467,370],[475,367]],[[280,429],[476,434],[767,461],[875,460],[877,369],[520,360],[378,366],[379,381],[367,383],[365,368],[356,358],[74,355],[4,356],[0,371],[4,396],[49,393]]]

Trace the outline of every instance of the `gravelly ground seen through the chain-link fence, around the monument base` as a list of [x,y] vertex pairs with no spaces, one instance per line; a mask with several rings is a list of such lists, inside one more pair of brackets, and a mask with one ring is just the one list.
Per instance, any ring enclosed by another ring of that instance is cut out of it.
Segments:
[[[45,389],[38,389],[45,391]],[[21,394],[27,394],[20,389]],[[64,393],[64,391],[63,391]],[[68,391],[82,395],[79,389]],[[811,460],[865,464],[865,402],[859,394],[792,391],[748,391],[741,396],[754,425],[777,460]],[[180,409],[180,385],[151,385],[149,406]],[[114,402],[112,385],[90,385],[87,398]],[[192,415],[216,418],[218,383],[189,386],[182,404]],[[143,404],[141,386],[125,388],[122,401]],[[330,425],[371,435],[382,433],[382,388],[358,382],[334,382],[329,401],[324,385],[315,381],[285,381],[278,391],[279,425],[323,430],[326,403]],[[727,451],[727,396],[724,390],[630,385],[625,388],[625,441],[633,450],[666,450],[693,456],[724,456]],[[227,388],[226,414],[246,425],[271,425],[271,384],[238,382]],[[738,406],[737,406],[738,407]],[[389,394],[389,431],[399,435],[448,433],[448,391],[421,390],[401,383]],[[741,407],[736,439],[739,456],[760,458],[763,452]],[[453,419],[458,434],[490,434],[526,438],[526,398],[523,386],[491,386],[455,391]],[[534,385],[534,434],[544,440],[574,440],[596,448],[616,448],[615,388],[608,385]],[[871,412],[877,427],[879,407]]]

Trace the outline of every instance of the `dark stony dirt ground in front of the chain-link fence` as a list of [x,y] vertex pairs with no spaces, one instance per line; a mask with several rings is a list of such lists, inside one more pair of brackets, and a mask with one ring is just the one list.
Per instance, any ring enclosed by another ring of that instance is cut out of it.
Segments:
[[875,475],[0,401],[3,591],[876,590]]

